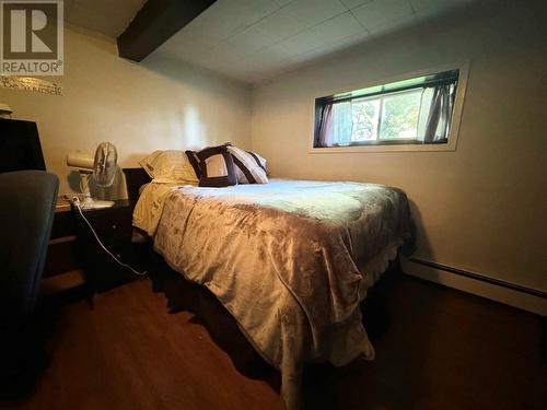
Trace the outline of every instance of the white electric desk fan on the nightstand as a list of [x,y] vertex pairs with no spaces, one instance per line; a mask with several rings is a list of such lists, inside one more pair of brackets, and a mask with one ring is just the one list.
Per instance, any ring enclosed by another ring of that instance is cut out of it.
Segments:
[[80,151],[68,154],[67,165],[80,172],[80,189],[84,196],[82,209],[109,208],[114,204],[114,201],[101,201],[91,197],[90,177],[93,175],[97,187],[110,187],[118,169],[117,161],[116,148],[109,142],[101,142],[94,156]]

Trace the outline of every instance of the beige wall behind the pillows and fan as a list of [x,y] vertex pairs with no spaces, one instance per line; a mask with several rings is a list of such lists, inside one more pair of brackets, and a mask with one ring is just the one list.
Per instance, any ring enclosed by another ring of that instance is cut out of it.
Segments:
[[61,192],[78,189],[66,155],[113,142],[121,166],[158,149],[232,141],[251,147],[251,92],[240,83],[179,62],[117,57],[114,39],[77,28],[65,33],[62,96],[0,89],[14,118],[36,121],[47,168]]

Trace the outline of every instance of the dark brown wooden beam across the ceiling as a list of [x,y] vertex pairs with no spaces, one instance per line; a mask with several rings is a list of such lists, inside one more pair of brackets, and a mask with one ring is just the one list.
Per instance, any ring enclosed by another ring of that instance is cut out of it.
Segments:
[[216,1],[148,0],[119,35],[119,57],[142,61]]

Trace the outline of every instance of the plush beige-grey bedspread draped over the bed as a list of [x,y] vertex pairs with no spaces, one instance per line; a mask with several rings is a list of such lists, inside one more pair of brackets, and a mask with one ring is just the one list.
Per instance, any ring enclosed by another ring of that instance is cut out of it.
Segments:
[[148,184],[133,225],[280,371],[288,409],[300,406],[305,363],[374,358],[359,305],[410,236],[404,191],[346,181]]

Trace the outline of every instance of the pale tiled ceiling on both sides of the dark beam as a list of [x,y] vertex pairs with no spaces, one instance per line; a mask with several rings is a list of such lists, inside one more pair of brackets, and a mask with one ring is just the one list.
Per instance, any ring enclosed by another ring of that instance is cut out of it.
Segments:
[[[474,0],[218,0],[154,54],[260,83]],[[66,0],[69,23],[117,37],[144,0]]]

